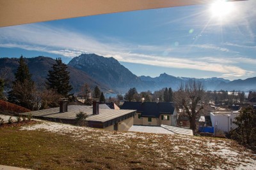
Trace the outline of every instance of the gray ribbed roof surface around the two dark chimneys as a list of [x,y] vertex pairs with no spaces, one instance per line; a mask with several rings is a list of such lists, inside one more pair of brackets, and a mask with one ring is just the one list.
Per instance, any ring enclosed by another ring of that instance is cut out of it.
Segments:
[[21,115],[28,115],[32,113],[33,117],[44,117],[44,118],[60,118],[74,120],[76,114],[79,111],[87,113],[89,117],[86,119],[88,121],[106,122],[108,120],[113,120],[117,117],[122,117],[129,113],[133,113],[135,110],[111,110],[111,109],[99,109],[99,115],[92,114],[92,106],[78,106],[71,105],[68,106],[68,111],[65,113],[60,113],[60,108],[51,108],[46,110],[31,111],[27,113],[21,113]]

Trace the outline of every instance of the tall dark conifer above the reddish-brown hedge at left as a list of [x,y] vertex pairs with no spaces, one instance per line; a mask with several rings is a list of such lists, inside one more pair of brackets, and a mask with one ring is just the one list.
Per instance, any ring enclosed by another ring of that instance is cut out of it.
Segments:
[[8,101],[33,110],[33,92],[35,92],[35,84],[31,80],[28,66],[21,55],[12,90],[8,92]]

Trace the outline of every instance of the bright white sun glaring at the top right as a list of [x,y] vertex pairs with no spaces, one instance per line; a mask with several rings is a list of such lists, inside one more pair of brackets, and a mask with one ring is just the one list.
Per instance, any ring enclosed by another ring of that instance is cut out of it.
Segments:
[[226,2],[225,0],[218,0],[211,6],[212,17],[220,19],[228,17],[234,11],[234,3]]

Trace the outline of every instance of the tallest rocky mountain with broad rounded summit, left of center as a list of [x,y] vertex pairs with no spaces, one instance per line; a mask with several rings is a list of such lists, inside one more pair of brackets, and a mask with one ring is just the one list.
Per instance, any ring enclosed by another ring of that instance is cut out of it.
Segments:
[[70,60],[68,66],[84,71],[94,80],[118,91],[127,92],[131,87],[144,90],[149,87],[113,57],[102,57],[94,53],[81,54]]

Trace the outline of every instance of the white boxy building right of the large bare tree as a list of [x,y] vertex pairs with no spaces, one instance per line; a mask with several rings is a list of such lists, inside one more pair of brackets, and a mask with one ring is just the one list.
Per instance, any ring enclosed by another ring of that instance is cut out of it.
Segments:
[[215,113],[211,113],[214,134],[216,132],[230,132],[230,130],[236,129],[237,125],[233,122],[237,115],[239,115],[239,111],[216,111]]

